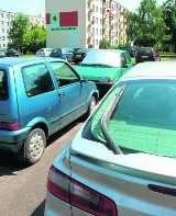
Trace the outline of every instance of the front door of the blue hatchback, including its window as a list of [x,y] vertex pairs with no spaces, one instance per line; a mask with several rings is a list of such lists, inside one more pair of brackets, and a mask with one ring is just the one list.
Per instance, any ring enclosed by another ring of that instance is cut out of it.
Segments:
[[86,83],[68,64],[54,61],[51,66],[58,84],[61,127],[63,127],[87,110]]

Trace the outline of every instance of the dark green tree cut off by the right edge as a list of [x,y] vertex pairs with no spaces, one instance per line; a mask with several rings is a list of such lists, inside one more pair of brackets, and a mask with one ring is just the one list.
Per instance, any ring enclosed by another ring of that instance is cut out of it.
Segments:
[[164,43],[169,46],[174,46],[174,50],[176,52],[176,1],[167,0],[163,3],[162,7],[163,19],[165,22],[166,29],[166,38]]

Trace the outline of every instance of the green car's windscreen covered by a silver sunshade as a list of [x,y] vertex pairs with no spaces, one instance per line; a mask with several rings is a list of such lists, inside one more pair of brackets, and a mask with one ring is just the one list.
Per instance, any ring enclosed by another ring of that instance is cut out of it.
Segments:
[[120,53],[109,50],[92,50],[81,61],[82,64],[108,65],[112,67],[120,67]]

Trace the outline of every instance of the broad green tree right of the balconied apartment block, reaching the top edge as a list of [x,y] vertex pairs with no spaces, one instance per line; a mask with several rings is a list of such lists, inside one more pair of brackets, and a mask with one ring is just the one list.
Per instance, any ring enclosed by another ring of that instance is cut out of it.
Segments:
[[161,44],[165,35],[165,23],[157,0],[142,0],[135,13],[128,13],[125,19],[129,41],[134,41],[139,46]]

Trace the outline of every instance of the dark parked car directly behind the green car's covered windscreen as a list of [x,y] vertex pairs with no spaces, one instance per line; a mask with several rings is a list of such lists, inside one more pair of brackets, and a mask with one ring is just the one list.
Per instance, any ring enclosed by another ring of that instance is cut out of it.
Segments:
[[89,52],[95,50],[95,48],[80,48],[74,52],[73,54],[73,62],[78,64],[81,62],[82,59],[87,56]]

